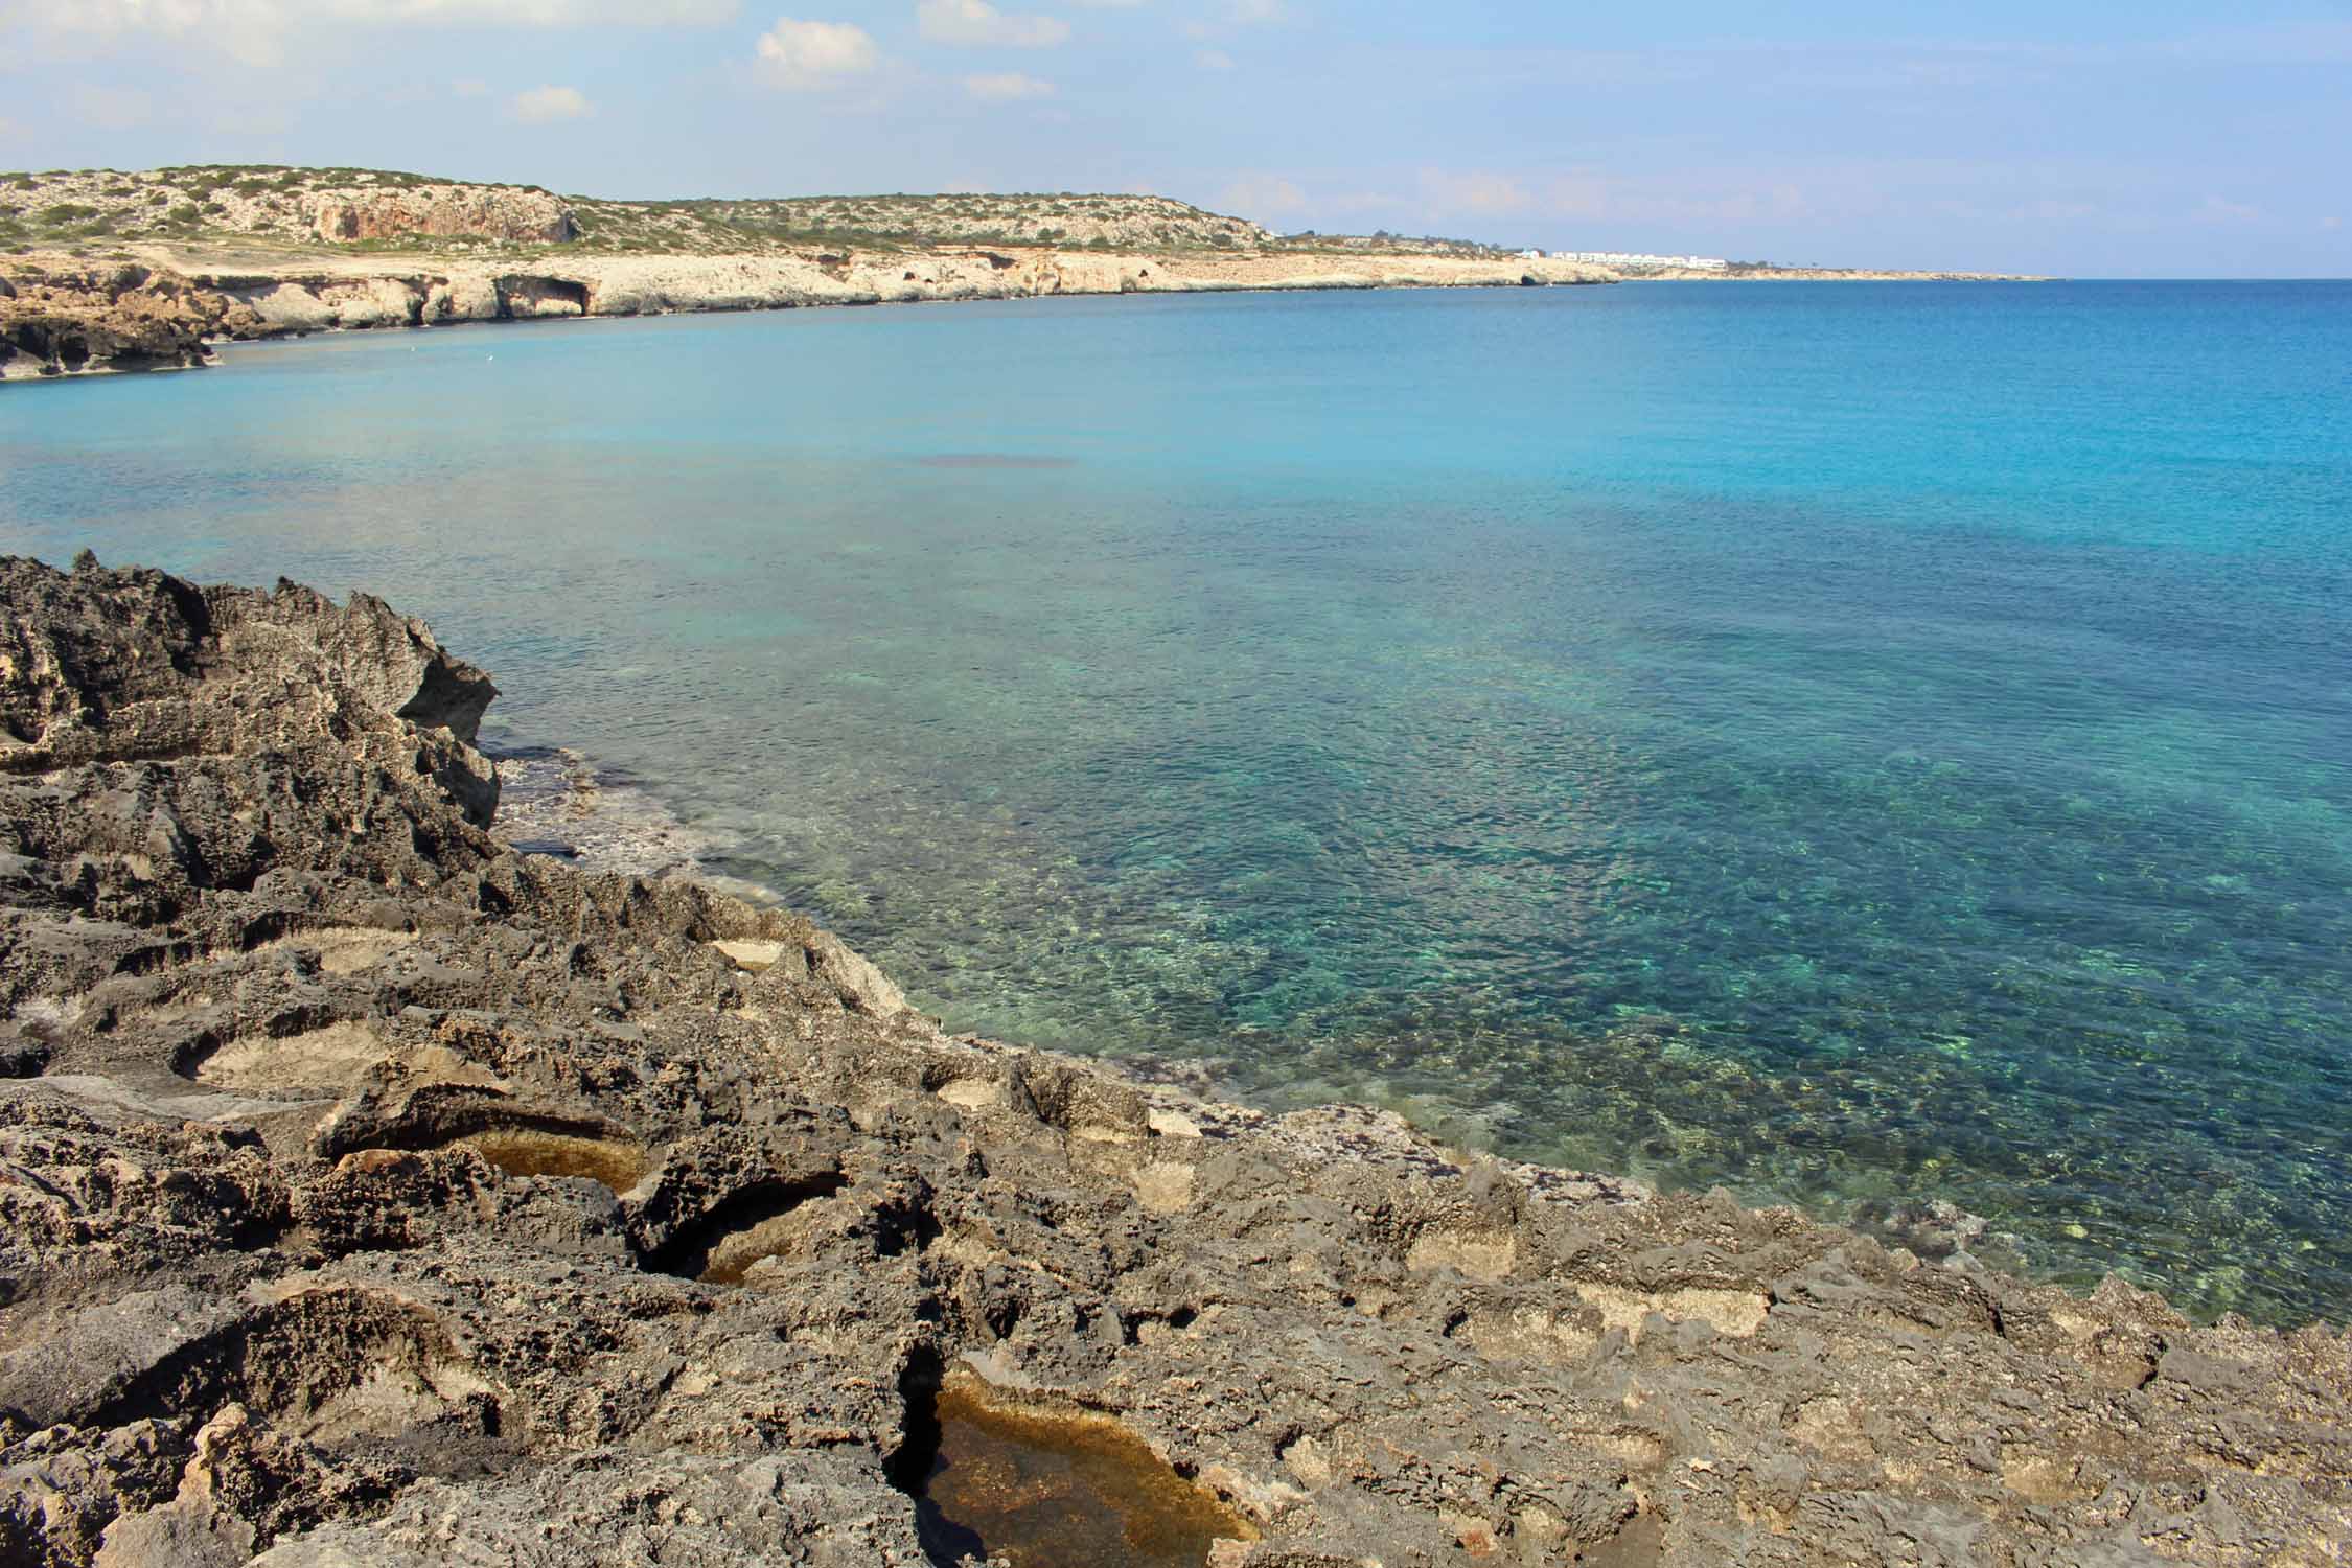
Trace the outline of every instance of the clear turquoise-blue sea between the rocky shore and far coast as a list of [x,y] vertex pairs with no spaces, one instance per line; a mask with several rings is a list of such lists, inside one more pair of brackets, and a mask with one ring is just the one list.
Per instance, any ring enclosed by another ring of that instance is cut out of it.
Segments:
[[0,548],[365,585],[950,1025],[2352,1316],[2352,284],[339,336]]

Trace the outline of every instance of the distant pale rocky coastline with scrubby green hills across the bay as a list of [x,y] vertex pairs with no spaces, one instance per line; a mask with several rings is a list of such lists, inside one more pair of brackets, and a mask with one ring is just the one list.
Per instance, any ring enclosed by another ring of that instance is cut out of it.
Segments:
[[607,202],[374,169],[0,176],[0,381],[212,362],[219,341],[1049,294],[1994,282],[1644,268],[1465,240],[1275,235],[1167,197]]

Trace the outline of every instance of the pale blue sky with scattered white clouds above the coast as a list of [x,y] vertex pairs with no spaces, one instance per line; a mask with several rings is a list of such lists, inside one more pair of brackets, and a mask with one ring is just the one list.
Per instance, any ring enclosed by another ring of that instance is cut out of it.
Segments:
[[1277,230],[2352,275],[2352,0],[0,0],[0,169],[1152,190]]

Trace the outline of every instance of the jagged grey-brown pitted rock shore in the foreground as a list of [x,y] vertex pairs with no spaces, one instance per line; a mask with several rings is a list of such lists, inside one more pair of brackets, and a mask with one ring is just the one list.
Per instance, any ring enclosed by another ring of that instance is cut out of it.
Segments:
[[2340,1331],[948,1037],[376,599],[0,604],[0,1561],[950,1563],[974,1410],[1218,1568],[2345,1561]]

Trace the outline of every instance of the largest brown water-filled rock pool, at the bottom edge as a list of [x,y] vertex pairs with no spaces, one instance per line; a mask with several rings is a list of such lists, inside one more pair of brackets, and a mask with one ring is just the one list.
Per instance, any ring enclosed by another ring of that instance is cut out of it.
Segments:
[[1256,1537],[1108,1418],[1007,1408],[955,1378],[936,1422],[938,1453],[915,1500],[934,1563],[1200,1568],[1214,1542]]

